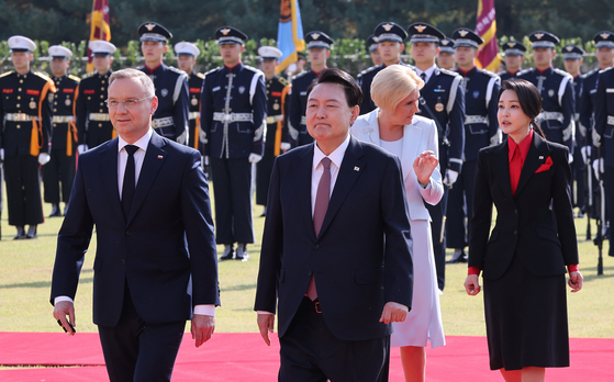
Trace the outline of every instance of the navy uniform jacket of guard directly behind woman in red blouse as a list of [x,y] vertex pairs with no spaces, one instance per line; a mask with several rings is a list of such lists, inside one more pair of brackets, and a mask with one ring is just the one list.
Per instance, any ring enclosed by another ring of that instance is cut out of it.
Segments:
[[518,78],[537,87],[542,94],[542,113],[536,122],[550,142],[563,144],[573,153],[576,100],[573,78],[566,71],[549,67],[540,72],[536,68],[521,71]]

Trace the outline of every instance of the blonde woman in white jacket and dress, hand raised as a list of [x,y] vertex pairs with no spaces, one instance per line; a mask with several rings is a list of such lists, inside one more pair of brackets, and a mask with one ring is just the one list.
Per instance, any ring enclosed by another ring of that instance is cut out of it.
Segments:
[[431,216],[424,202],[437,204],[444,194],[439,172],[437,127],[415,115],[424,81],[408,66],[391,65],[371,83],[378,109],[351,126],[356,138],[373,143],[401,159],[413,237],[414,294],[408,318],[394,323],[391,346],[401,348],[405,381],[424,381],[425,347],[445,345]]

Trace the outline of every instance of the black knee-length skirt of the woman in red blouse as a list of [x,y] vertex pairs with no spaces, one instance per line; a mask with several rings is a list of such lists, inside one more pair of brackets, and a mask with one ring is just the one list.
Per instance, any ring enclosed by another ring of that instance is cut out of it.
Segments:
[[565,274],[536,277],[514,256],[483,292],[491,370],[569,367]]

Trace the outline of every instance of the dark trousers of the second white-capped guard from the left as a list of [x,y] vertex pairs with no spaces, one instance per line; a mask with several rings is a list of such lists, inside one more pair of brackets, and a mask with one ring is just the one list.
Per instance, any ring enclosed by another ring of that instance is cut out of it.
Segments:
[[59,204],[62,183],[62,201],[68,203],[72,181],[75,180],[75,153],[66,155],[66,148],[52,149],[51,160],[43,166],[44,200],[46,203]]

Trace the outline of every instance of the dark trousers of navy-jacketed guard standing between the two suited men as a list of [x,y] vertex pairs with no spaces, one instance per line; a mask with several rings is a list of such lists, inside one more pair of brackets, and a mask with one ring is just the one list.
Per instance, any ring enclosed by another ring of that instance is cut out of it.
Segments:
[[215,241],[254,243],[252,164],[247,158],[211,159],[215,195]]

